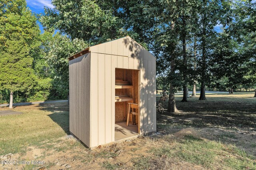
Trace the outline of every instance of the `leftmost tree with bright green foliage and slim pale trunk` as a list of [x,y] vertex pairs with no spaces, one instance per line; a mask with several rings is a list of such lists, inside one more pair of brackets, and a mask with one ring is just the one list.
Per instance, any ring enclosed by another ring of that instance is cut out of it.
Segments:
[[36,84],[31,51],[40,29],[25,0],[4,0],[0,4],[0,87],[29,92]]

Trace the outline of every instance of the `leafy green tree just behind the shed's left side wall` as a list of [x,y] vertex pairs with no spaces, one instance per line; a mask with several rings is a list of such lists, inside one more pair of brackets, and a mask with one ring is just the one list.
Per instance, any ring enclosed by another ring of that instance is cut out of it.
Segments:
[[46,53],[46,62],[52,70],[53,86],[58,96],[66,98],[69,88],[68,57],[89,46],[82,39],[71,40],[66,35],[56,33],[49,42],[50,50]]

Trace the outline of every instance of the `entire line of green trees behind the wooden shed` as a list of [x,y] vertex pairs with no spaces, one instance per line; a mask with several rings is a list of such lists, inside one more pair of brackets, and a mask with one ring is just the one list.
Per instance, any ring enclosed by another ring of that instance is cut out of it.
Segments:
[[[256,88],[256,3],[252,0],[52,0],[32,14],[25,0],[0,4],[0,102],[65,99],[67,58],[129,35],[157,59],[169,94]],[[44,26],[44,33],[36,21]],[[54,34],[55,30],[59,30]],[[195,96],[195,94],[194,94]],[[255,95],[256,97],[256,95]]]

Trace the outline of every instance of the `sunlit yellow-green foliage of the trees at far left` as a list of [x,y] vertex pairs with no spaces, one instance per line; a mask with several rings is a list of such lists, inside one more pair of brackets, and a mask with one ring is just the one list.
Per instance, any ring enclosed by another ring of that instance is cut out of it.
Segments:
[[14,102],[47,100],[52,78],[43,58],[50,34],[40,35],[25,0],[4,0],[0,9],[0,102],[8,102],[10,92]]

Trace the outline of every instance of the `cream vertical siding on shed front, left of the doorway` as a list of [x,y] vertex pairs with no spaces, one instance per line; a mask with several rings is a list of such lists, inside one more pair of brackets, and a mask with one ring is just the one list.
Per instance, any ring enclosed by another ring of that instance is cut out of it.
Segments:
[[[114,142],[115,68],[118,56],[91,53],[91,146]],[[112,57],[114,56],[114,57]]]

